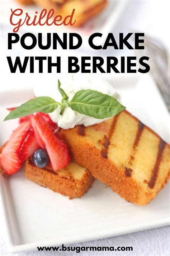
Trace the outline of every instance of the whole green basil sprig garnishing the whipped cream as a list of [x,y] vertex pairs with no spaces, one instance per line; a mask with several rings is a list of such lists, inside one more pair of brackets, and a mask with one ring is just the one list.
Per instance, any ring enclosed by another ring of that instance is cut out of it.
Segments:
[[57,109],[59,105],[61,106],[60,114],[62,114],[65,107],[68,106],[80,114],[98,119],[115,116],[126,108],[112,96],[90,89],[78,91],[69,102],[69,96],[61,89],[59,80],[58,90],[62,95],[61,103],[56,102],[50,97],[37,97],[15,108],[5,117],[4,121],[28,116],[35,112],[51,113]]

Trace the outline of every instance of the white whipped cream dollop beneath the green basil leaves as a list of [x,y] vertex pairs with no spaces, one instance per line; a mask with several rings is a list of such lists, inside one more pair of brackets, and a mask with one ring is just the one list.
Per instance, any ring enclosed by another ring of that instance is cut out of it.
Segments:
[[[58,76],[58,79],[61,82],[61,88],[65,91],[65,93],[69,96],[69,100],[73,98],[77,91],[83,89],[91,89],[96,90],[104,94],[108,94],[110,96],[114,96],[118,98],[118,94],[115,89],[110,85],[107,81],[100,78],[98,75],[89,74],[69,74],[65,76]],[[54,82],[49,82],[47,84],[36,85],[34,87],[34,95],[36,97],[39,96],[49,96],[56,100],[57,102],[61,102],[61,94],[57,89],[57,79]],[[53,122],[56,122],[59,127],[63,129],[73,128],[75,125],[94,125],[96,123],[101,123],[106,119],[97,119],[94,117],[89,117],[84,114],[80,114],[76,111],[73,111],[70,107],[66,107],[63,114],[60,114],[61,106],[49,113]]]

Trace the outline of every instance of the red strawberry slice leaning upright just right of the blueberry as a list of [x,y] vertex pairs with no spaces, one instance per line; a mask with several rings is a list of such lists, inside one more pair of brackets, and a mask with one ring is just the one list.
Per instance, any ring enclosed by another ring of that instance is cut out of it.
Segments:
[[70,161],[66,143],[54,133],[51,124],[41,113],[31,114],[30,121],[34,128],[36,138],[41,138],[46,148],[53,170],[59,170],[68,165]]

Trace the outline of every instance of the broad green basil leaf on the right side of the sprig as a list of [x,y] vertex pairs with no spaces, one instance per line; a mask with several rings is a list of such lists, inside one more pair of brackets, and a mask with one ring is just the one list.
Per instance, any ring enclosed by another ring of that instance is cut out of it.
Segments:
[[80,114],[98,119],[115,116],[125,109],[112,96],[90,89],[78,91],[69,102],[69,106]]

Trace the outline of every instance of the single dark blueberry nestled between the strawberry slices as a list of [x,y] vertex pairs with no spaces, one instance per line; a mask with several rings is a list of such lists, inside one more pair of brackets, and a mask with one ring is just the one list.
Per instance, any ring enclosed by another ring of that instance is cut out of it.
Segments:
[[46,167],[47,163],[49,161],[49,157],[47,154],[46,149],[38,149],[36,152],[33,154],[33,162],[35,163],[36,166],[40,168]]

